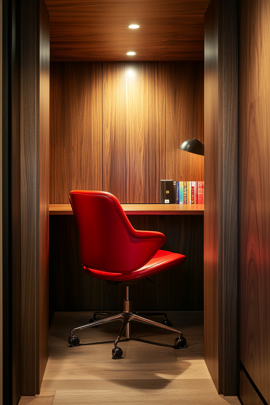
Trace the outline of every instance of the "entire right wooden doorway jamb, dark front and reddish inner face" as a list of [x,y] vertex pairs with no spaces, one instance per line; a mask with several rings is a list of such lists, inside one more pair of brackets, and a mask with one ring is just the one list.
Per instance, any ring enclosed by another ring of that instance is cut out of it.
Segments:
[[237,64],[236,3],[212,0],[205,14],[205,360],[224,395],[237,392]]

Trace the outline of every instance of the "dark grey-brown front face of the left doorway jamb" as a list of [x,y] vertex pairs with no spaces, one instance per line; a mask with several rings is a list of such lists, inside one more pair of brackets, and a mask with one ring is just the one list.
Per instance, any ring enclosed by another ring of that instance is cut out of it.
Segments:
[[21,2],[21,394],[36,394],[36,2]]

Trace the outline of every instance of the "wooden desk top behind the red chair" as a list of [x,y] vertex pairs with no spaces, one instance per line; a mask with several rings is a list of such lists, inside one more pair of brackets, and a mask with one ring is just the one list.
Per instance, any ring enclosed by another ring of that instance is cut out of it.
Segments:
[[[126,215],[204,215],[203,204],[121,204]],[[70,204],[50,204],[50,215],[73,215]]]

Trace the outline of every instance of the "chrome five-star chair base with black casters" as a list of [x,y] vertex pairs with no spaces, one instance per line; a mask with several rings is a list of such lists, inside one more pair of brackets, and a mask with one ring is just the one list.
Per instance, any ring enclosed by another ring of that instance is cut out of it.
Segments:
[[[172,328],[171,326],[169,326],[170,321],[167,318],[166,313],[149,313],[147,312],[146,314],[148,316],[151,315],[165,315],[163,324],[160,324],[159,322],[155,322],[152,321],[150,319],[147,318],[143,318],[142,316],[138,315],[138,312],[132,312],[131,308],[130,308],[130,299],[128,297],[128,287],[126,287],[126,298],[124,299],[124,310],[117,314],[117,315],[113,315],[113,316],[109,316],[108,318],[104,318],[104,319],[100,319],[100,320],[96,320],[96,315],[107,315],[107,312],[95,312],[93,318],[91,318],[90,323],[87,325],[83,325],[83,326],[79,326],[78,328],[74,328],[70,331],[70,337],[68,338],[68,343],[72,346],[78,346],[80,343],[80,339],[74,335],[74,332],[76,330],[81,330],[81,329],[85,329],[85,328],[91,328],[92,326],[98,326],[100,324],[104,324],[106,322],[112,322],[115,321],[117,319],[120,319],[122,321],[122,325],[120,328],[120,332],[119,335],[117,337],[117,339],[115,340],[115,344],[112,350],[112,355],[113,358],[115,359],[119,359],[122,357],[123,355],[123,350],[121,349],[121,347],[117,346],[121,337],[124,335],[127,339],[132,339],[131,337],[131,321],[137,321],[137,322],[141,322],[143,324],[148,324],[148,325],[153,325],[153,326],[157,326],[158,328],[162,328],[162,329],[166,329],[166,330],[171,330],[172,332],[176,332],[177,334],[179,334],[178,337],[176,337],[176,339],[174,340],[174,345],[178,348],[183,349],[186,344],[187,341],[186,339],[183,337],[183,333],[180,330],[176,330],[174,328]],[[170,324],[171,325],[171,324]],[[136,339],[137,340],[137,339]]]

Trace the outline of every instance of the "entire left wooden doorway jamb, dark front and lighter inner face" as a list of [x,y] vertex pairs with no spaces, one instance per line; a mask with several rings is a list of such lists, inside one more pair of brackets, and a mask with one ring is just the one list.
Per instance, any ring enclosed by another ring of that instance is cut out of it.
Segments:
[[21,395],[40,392],[48,358],[49,15],[21,2]]

